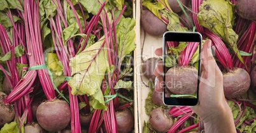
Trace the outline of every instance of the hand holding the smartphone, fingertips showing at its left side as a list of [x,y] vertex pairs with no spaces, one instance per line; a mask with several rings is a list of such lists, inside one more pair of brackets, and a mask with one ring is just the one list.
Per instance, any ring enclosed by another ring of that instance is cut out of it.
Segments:
[[[155,54],[158,56],[162,55],[162,48],[156,49]],[[206,126],[206,128],[213,127],[217,125],[217,129],[220,128],[219,122],[220,117],[224,117],[225,120],[229,120],[226,124],[222,124],[222,126],[231,127],[229,132],[235,131],[234,129],[234,120],[232,119],[232,111],[227,105],[224,96],[223,89],[223,75],[220,69],[217,66],[215,59],[213,58],[213,54],[211,53],[211,41],[207,40],[204,42],[202,53],[201,53],[201,79],[199,83],[199,104],[192,107],[192,110],[201,117],[204,124],[210,124],[211,126]],[[162,61],[158,62],[154,71],[156,76],[155,79],[155,91],[162,92]],[[227,118],[226,118],[227,117]],[[222,120],[222,119],[221,119]],[[223,120],[222,120],[223,121]],[[216,124],[213,124],[216,122]],[[226,122],[226,121],[225,121]],[[212,125],[213,124],[213,125]],[[209,129],[209,130],[210,130]],[[225,130],[227,130],[225,129]],[[224,130],[222,130],[224,131]]]

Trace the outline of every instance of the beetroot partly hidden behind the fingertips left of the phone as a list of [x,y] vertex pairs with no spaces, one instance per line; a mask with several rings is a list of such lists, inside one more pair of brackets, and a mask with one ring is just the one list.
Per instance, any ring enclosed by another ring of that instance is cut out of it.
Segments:
[[155,70],[155,65],[160,61],[159,58],[148,58],[146,61],[143,61],[143,65],[141,66],[141,73],[145,75],[146,79],[155,81],[155,75],[153,71]]

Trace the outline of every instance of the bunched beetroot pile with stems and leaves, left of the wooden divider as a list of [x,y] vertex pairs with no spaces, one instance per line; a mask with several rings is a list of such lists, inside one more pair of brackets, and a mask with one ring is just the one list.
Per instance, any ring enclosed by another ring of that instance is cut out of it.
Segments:
[[132,1],[4,0],[0,132],[132,132]]

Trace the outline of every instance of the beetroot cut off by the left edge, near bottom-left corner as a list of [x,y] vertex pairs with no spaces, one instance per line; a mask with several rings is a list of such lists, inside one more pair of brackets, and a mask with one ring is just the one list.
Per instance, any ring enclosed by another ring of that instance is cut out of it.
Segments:
[[10,123],[15,117],[15,110],[11,105],[5,105],[3,98],[7,95],[0,91],[0,128],[6,123]]

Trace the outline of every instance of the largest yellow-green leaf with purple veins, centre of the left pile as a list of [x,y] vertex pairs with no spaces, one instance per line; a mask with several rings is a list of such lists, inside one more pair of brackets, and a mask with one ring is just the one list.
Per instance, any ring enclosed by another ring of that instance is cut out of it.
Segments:
[[72,88],[72,94],[93,96],[97,100],[96,103],[101,104],[100,107],[105,106],[101,83],[105,72],[110,69],[106,49],[105,47],[100,49],[103,41],[104,37],[70,59],[69,66],[72,70],[73,79],[68,82]]

